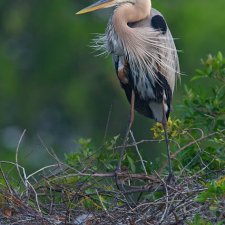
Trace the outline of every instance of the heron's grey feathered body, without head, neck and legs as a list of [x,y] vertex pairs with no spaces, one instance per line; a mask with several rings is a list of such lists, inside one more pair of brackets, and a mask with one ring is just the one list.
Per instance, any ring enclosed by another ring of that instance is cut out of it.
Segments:
[[[142,20],[127,21],[123,25],[125,28],[117,21],[118,13],[119,9],[116,9],[102,39],[107,40],[104,43],[106,51],[113,56],[117,76],[129,102],[134,90],[135,109],[162,122],[163,108],[167,119],[169,117],[179,73],[172,35],[163,16],[155,9]],[[136,57],[140,55],[141,58]]]

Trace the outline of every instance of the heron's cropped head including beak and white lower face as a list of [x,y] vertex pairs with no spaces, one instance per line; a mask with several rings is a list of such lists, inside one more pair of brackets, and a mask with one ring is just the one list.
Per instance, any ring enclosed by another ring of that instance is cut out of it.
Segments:
[[120,5],[122,3],[133,3],[134,4],[135,0],[99,0],[95,3],[93,3],[92,5],[80,10],[76,14],[84,14],[84,13],[92,12],[92,11],[95,11],[98,9],[105,9],[105,8],[113,7],[116,5]]

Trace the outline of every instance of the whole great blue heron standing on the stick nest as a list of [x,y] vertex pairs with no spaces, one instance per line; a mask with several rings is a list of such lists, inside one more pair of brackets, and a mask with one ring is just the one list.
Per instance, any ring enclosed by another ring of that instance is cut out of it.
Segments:
[[[131,104],[129,135],[134,109],[162,123],[167,146],[169,178],[173,176],[167,121],[176,78],[179,76],[177,50],[160,12],[150,0],[100,0],[77,14],[115,6],[97,47],[112,55],[117,77]],[[124,143],[125,146],[125,143]],[[121,150],[118,170],[125,147]]]

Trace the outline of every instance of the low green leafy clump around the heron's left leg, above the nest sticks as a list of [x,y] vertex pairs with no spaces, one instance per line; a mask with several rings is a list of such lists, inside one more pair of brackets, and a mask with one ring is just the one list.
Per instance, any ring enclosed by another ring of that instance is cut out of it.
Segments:
[[[118,145],[119,135],[97,148],[91,139],[81,138],[78,140],[79,150],[65,154],[66,162],[75,168],[89,165],[95,171],[114,171],[119,160]],[[137,172],[134,152],[127,149],[124,155],[123,169]]]

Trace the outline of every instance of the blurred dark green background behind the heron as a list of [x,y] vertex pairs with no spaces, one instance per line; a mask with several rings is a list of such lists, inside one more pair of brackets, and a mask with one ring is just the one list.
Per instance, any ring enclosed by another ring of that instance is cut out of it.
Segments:
[[[62,157],[76,150],[79,137],[100,145],[109,114],[107,137],[124,133],[129,105],[111,58],[96,57],[89,47],[94,33],[104,32],[111,10],[74,15],[92,2],[0,1],[0,160],[14,160],[24,129],[19,160],[33,169],[48,163],[45,147]],[[175,92],[176,109],[200,58],[225,52],[225,1],[152,4],[178,38],[181,70],[188,75]],[[137,139],[150,138],[151,123],[136,115]],[[149,144],[146,148],[155,154]]]

